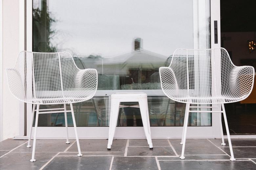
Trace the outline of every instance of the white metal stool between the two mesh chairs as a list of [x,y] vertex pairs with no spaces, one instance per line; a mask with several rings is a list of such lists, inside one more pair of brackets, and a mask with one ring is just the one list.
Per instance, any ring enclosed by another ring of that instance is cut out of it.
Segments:
[[[117,117],[119,108],[125,107],[134,107],[139,108],[142,124],[144,127],[144,132],[149,144],[149,148],[153,149],[151,132],[150,132],[150,123],[149,123],[149,113],[148,113],[148,100],[146,93],[115,93],[111,94],[111,107],[110,107],[110,123],[109,123],[109,135],[108,135],[108,150],[111,149],[113,142],[116,126],[117,126]],[[120,102],[139,102],[139,105],[120,105]]]

